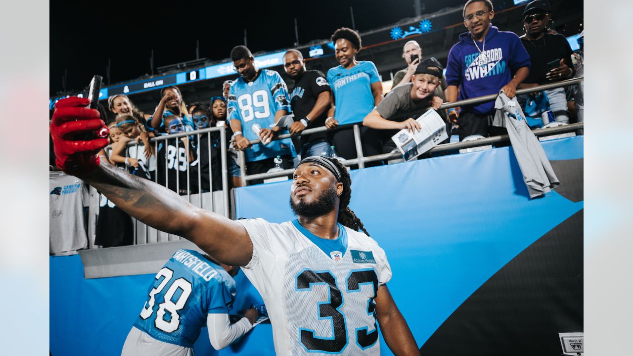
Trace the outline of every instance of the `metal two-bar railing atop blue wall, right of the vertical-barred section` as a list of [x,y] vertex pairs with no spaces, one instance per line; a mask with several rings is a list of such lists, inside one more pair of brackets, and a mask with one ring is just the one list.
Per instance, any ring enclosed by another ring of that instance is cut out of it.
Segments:
[[[528,94],[530,92],[537,92],[537,91],[544,91],[547,89],[555,89],[555,88],[559,88],[559,87],[567,87],[567,86],[573,86],[575,84],[579,84],[580,82],[582,82],[583,77],[579,77],[579,78],[573,78],[573,79],[567,79],[567,80],[561,80],[560,82],[555,82],[555,83],[549,83],[549,84],[543,84],[541,86],[536,86],[536,87],[531,87],[531,88],[525,88],[525,89],[518,89],[517,90],[517,95],[519,94]],[[498,94],[490,94],[490,95],[486,95],[486,96],[480,96],[477,98],[472,98],[472,99],[465,99],[465,100],[461,100],[461,101],[455,101],[454,103],[444,103],[442,104],[442,106],[440,106],[440,109],[449,109],[449,108],[455,108],[457,106],[462,106],[462,105],[472,105],[472,104],[477,104],[477,103],[484,103],[486,101],[492,101],[495,100],[497,98]],[[404,113],[401,115],[397,115],[398,117],[412,117],[413,115],[421,115],[423,113],[423,111],[410,111],[408,113]],[[349,160],[344,160],[341,163],[343,163],[346,166],[350,166],[350,165],[358,165],[358,168],[365,168],[365,163],[368,162],[375,162],[375,161],[382,161],[382,160],[394,160],[394,159],[398,159],[398,158],[402,158],[401,153],[399,153],[398,151],[396,152],[392,152],[392,153],[384,153],[382,155],[375,155],[375,156],[363,156],[363,148],[362,148],[362,144],[361,144],[361,135],[360,135],[360,123],[357,124],[348,124],[348,125],[339,125],[337,127],[335,127],[334,129],[327,129],[326,127],[315,127],[314,129],[306,129],[303,130],[301,132],[301,134],[313,134],[316,132],[324,132],[324,131],[334,131],[334,130],[340,130],[340,129],[346,129],[348,127],[353,127],[354,128],[354,143],[356,144],[356,157],[357,158],[353,158],[353,159],[349,159]],[[535,136],[549,136],[549,135],[554,135],[554,134],[563,134],[566,132],[574,132],[577,131],[579,129],[582,129],[584,127],[584,124],[582,122],[576,123],[576,124],[569,124],[569,125],[561,125],[558,127],[551,127],[551,128],[547,128],[547,129],[534,129],[532,130],[532,132],[534,132]],[[273,140],[277,140],[277,139],[284,139],[287,137],[292,137],[293,135],[291,134],[280,134],[277,137],[274,137]],[[486,146],[492,143],[501,143],[501,142],[505,142],[505,141],[509,141],[510,137],[508,137],[508,135],[501,135],[501,136],[493,136],[493,137],[486,137],[484,139],[478,139],[475,141],[464,141],[464,142],[457,142],[457,143],[446,143],[446,144],[438,144],[437,146],[435,146],[434,148],[430,149],[429,151],[427,151],[426,153],[424,153],[422,156],[429,156],[432,154],[436,154],[436,153],[442,153],[442,152],[448,152],[448,151],[458,151],[459,149],[465,149],[465,148],[473,148],[473,147],[478,147],[478,146]],[[250,144],[258,144],[260,143],[260,140],[253,140],[250,141]],[[268,179],[268,178],[275,178],[275,177],[283,177],[285,175],[289,175],[292,174],[292,172],[294,171],[294,168],[292,169],[285,169],[285,170],[279,170],[277,172],[270,172],[270,173],[261,173],[261,174],[253,174],[253,175],[247,175],[246,174],[246,170],[244,167],[246,167],[246,159],[244,156],[243,152],[239,152],[238,153],[238,158],[240,161],[240,167],[241,167],[241,179],[242,179],[242,186],[246,186],[248,184],[248,181],[253,181],[254,179]]]

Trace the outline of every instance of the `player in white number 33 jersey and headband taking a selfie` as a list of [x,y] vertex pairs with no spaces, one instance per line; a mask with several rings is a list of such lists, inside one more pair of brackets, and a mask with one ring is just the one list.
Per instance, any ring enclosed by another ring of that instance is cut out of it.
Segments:
[[[351,180],[340,162],[313,156],[299,163],[290,192],[298,219],[234,221],[100,162],[107,128],[88,104],[77,97],[57,103],[51,123],[57,165],[144,224],[241,266],[263,296],[277,355],[379,355],[377,323],[396,355],[420,354],[387,289],[385,253],[348,207]],[[98,138],[73,141],[85,133]]]

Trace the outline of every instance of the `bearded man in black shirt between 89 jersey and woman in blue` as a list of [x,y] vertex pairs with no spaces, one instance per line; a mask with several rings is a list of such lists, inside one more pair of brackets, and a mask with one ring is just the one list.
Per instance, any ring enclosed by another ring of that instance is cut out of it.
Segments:
[[[284,54],[284,69],[294,81],[290,92],[290,105],[294,113],[291,134],[299,134],[306,128],[325,126],[327,110],[332,103],[330,84],[318,70],[306,70],[303,54],[289,49]],[[299,150],[301,158],[308,156],[330,156],[330,143],[326,132],[301,136]]]

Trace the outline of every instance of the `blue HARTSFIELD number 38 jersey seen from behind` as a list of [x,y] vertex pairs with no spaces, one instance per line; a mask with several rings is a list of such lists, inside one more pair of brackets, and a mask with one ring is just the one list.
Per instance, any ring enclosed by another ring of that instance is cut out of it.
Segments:
[[154,277],[134,326],[152,338],[193,347],[207,314],[227,314],[235,281],[193,250],[178,250]]

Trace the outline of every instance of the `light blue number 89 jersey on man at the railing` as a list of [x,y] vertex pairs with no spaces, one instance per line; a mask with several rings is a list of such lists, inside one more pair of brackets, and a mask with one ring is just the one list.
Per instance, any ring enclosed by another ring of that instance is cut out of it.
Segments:
[[[262,69],[252,82],[245,82],[242,77],[235,80],[230,87],[227,105],[229,120],[239,120],[242,124],[242,135],[249,140],[259,139],[253,125],[261,129],[270,129],[275,124],[275,113],[285,110],[290,113],[288,88],[279,73]],[[271,141],[269,144],[254,144],[246,149],[246,161],[260,161],[275,156],[296,155],[291,139]]]

